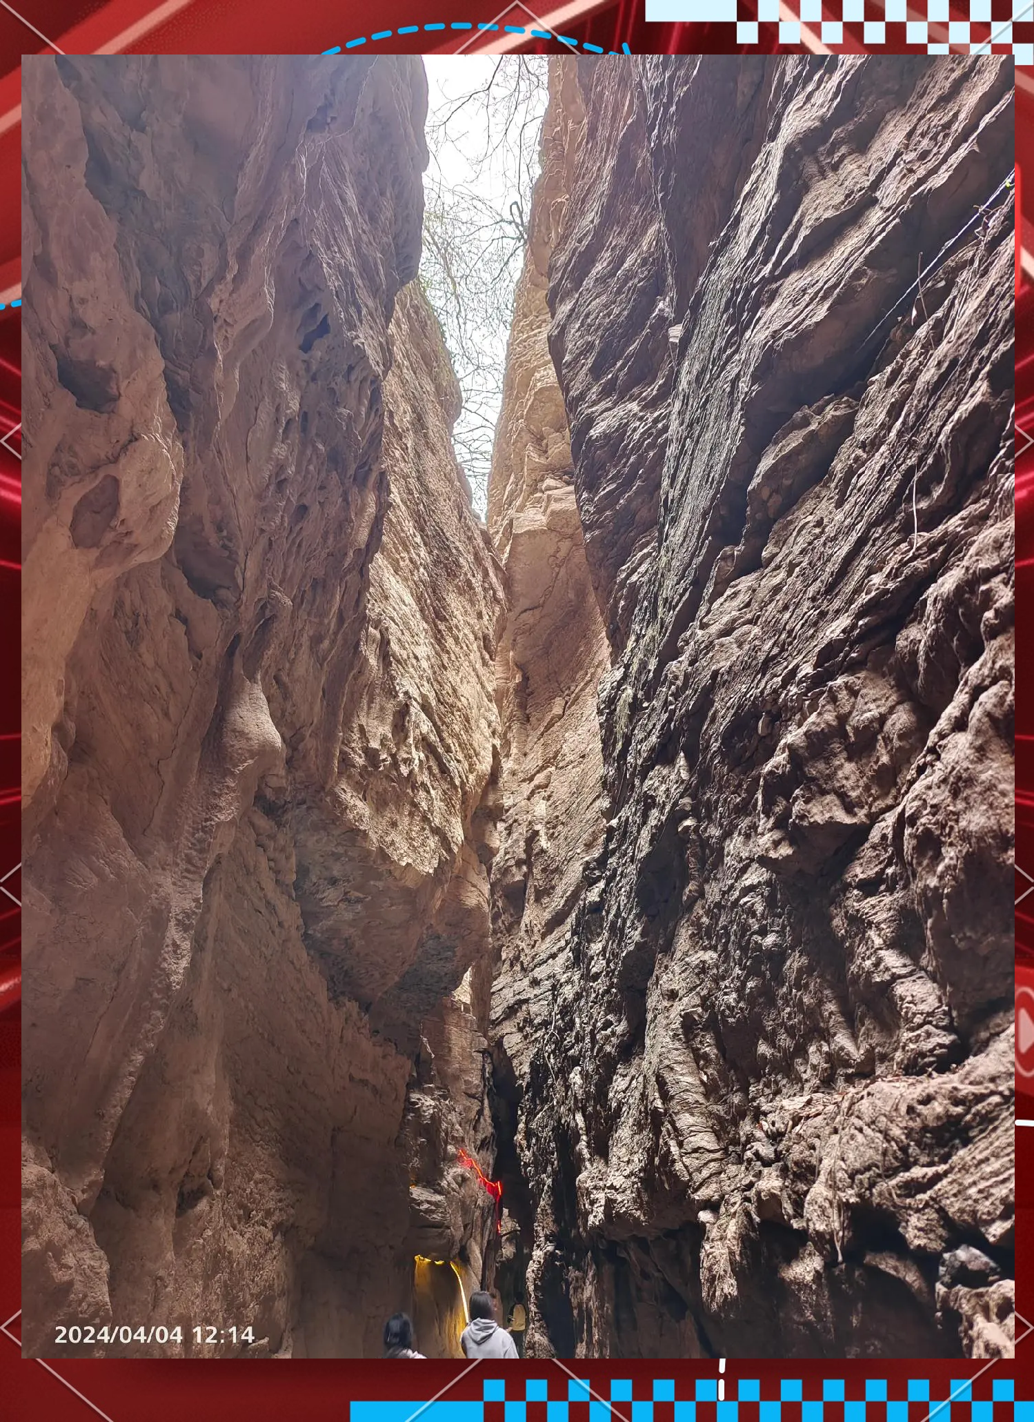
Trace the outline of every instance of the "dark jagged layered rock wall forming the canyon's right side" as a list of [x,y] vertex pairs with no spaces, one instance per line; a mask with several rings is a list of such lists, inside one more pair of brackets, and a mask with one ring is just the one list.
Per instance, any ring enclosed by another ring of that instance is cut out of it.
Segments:
[[[515,593],[491,1039],[529,1351],[1007,1354],[1010,65],[560,63],[533,223],[614,661],[576,892],[606,658]],[[566,448],[540,327],[525,292],[515,587],[575,570],[525,454]],[[586,778],[543,798],[558,643]]]

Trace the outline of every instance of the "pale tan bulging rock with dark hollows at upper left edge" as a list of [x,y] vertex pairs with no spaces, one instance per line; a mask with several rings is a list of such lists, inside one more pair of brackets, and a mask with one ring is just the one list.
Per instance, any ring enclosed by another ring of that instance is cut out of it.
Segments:
[[[26,65],[26,107],[51,135],[23,168],[23,799],[31,806],[64,752],[51,727],[64,670],[92,599],[168,549],[183,451],[152,326],[134,309],[115,225],[84,182],[87,139],[53,61]],[[46,277],[34,273],[43,267]],[[46,286],[46,299],[41,299]]]

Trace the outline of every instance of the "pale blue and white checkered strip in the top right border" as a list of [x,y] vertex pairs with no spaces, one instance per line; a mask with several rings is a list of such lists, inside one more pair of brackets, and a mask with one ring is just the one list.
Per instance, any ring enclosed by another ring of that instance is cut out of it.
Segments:
[[[919,0],[913,14],[926,9],[926,20],[909,18],[909,0],[886,0],[866,18],[865,0],[833,0],[826,13],[839,10],[839,20],[822,17],[822,0],[646,0],[646,18],[678,24],[735,26],[737,44],[758,44],[761,26],[778,26],[779,44],[801,44],[801,26],[808,26],[822,44],[843,44],[843,26],[862,26],[868,50],[895,54],[919,47],[926,54],[949,54],[949,46],[969,54],[1011,54],[1017,64],[1034,64],[1034,0],[1007,0],[1004,9],[993,0],[969,0],[969,20],[953,20],[947,0]],[[870,9],[870,14],[873,10]]]

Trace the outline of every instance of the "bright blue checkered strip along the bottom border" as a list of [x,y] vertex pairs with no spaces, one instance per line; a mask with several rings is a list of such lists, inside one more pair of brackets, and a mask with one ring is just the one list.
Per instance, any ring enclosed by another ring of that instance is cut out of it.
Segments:
[[[589,1422],[613,1422],[612,1404],[626,1422],[653,1422],[657,1402],[666,1405],[666,1418],[674,1413],[676,1422],[738,1422],[741,1402],[750,1404],[750,1422],[782,1422],[784,1404],[789,1404],[788,1416],[794,1422],[798,1412],[801,1422],[824,1422],[826,1404],[831,1404],[829,1418],[833,1422],[909,1422],[910,1402],[929,1406],[930,1422],[1034,1422],[1034,1401],[1016,1401],[1011,1378],[996,1378],[991,1382],[991,1399],[983,1401],[973,1401],[973,1388],[966,1378],[953,1381],[947,1391],[942,1384],[934,1392],[927,1378],[912,1378],[906,1396],[892,1396],[886,1379],[869,1378],[865,1399],[853,1401],[845,1399],[846,1388],[843,1379],[838,1378],[824,1379],[821,1399],[806,1399],[799,1378],[782,1378],[778,1398],[762,1398],[757,1378],[727,1379],[724,1398],[718,1396],[717,1378],[697,1378],[686,1389],[680,1388],[691,1391],[691,1398],[676,1398],[671,1378],[654,1378],[653,1398],[634,1399],[629,1378],[612,1378],[609,1385],[602,1384],[609,1396],[603,1392],[593,1396],[586,1379],[567,1378],[565,1398],[563,1381],[555,1372],[525,1379],[485,1378],[481,1402],[448,1398],[439,1398],[430,1406],[421,1402],[353,1402],[351,1422],[408,1422],[418,1411],[420,1422],[485,1422],[485,1404],[494,1406],[495,1416],[501,1415],[502,1408],[505,1422],[528,1422],[528,1404],[536,1406],[538,1416],[542,1416],[545,1405],[548,1422],[572,1422],[572,1416],[585,1418],[586,1402]],[[772,1389],[767,1386],[765,1391],[771,1394]],[[575,1413],[570,1412],[572,1404],[577,1405]],[[698,1404],[704,1404],[700,1419]]]

